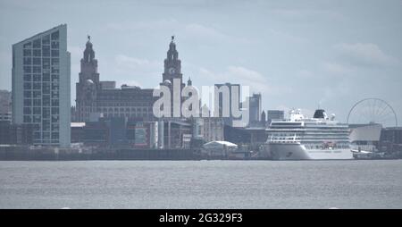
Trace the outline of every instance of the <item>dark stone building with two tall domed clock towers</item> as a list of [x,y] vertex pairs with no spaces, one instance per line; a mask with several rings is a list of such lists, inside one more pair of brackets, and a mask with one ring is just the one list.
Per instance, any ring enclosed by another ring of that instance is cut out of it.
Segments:
[[[161,85],[166,85],[167,81],[172,83],[173,79],[180,79],[180,88],[184,88],[178,55],[172,38],[164,60]],[[143,122],[155,121],[152,108],[159,97],[153,97],[154,89],[127,85],[115,88],[115,81],[99,80],[95,51],[90,37],[81,59],[79,77],[80,81],[76,84],[75,121],[89,122],[98,116],[128,117]],[[188,83],[191,84],[191,81],[188,80]]]

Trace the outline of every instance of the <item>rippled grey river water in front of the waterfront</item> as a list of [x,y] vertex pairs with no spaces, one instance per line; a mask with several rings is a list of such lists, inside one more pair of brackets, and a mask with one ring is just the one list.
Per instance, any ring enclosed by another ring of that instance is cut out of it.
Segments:
[[0,208],[402,208],[402,160],[0,162]]

